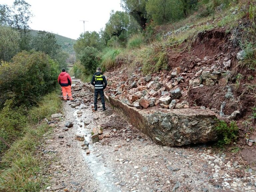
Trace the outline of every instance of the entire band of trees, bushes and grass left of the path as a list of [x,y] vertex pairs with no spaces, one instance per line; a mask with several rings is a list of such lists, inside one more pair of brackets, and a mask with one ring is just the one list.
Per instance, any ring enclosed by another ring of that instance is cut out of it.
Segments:
[[[43,188],[47,162],[37,154],[51,128],[44,118],[60,111],[56,92],[67,55],[53,34],[32,36],[24,0],[0,5],[0,191]],[[60,56],[62,55],[62,56]]]

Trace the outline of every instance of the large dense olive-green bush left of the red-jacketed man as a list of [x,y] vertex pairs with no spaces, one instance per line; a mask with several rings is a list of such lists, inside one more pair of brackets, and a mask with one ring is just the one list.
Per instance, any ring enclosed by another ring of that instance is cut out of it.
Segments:
[[58,64],[41,52],[23,51],[0,66],[0,101],[12,99],[16,106],[35,104],[55,88]]

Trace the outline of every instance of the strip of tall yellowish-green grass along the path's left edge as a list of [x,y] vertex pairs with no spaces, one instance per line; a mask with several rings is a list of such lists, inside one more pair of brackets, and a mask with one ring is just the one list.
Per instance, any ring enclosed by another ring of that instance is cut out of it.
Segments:
[[38,120],[60,110],[61,101],[55,92],[42,97],[38,107],[28,111],[27,129],[6,151],[0,162],[1,192],[38,192],[43,187],[42,169],[45,162],[36,155],[44,134],[51,131],[46,122]]

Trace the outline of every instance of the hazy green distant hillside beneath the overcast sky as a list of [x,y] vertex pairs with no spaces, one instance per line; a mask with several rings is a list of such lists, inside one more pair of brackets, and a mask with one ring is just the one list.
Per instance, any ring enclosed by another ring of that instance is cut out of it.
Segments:
[[[36,36],[36,34],[38,33],[38,30],[32,30],[31,34],[33,36]],[[74,53],[74,48],[73,45],[76,42],[76,40],[68,38],[68,37],[64,37],[55,33],[52,33],[55,35],[57,43],[62,47],[62,49],[66,52],[68,52],[69,54]]]

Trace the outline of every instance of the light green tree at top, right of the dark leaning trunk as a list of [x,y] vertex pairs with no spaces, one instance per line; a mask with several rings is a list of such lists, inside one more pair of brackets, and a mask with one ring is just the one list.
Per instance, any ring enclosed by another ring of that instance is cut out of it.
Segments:
[[148,0],[146,9],[157,24],[183,17],[182,3],[179,0]]

